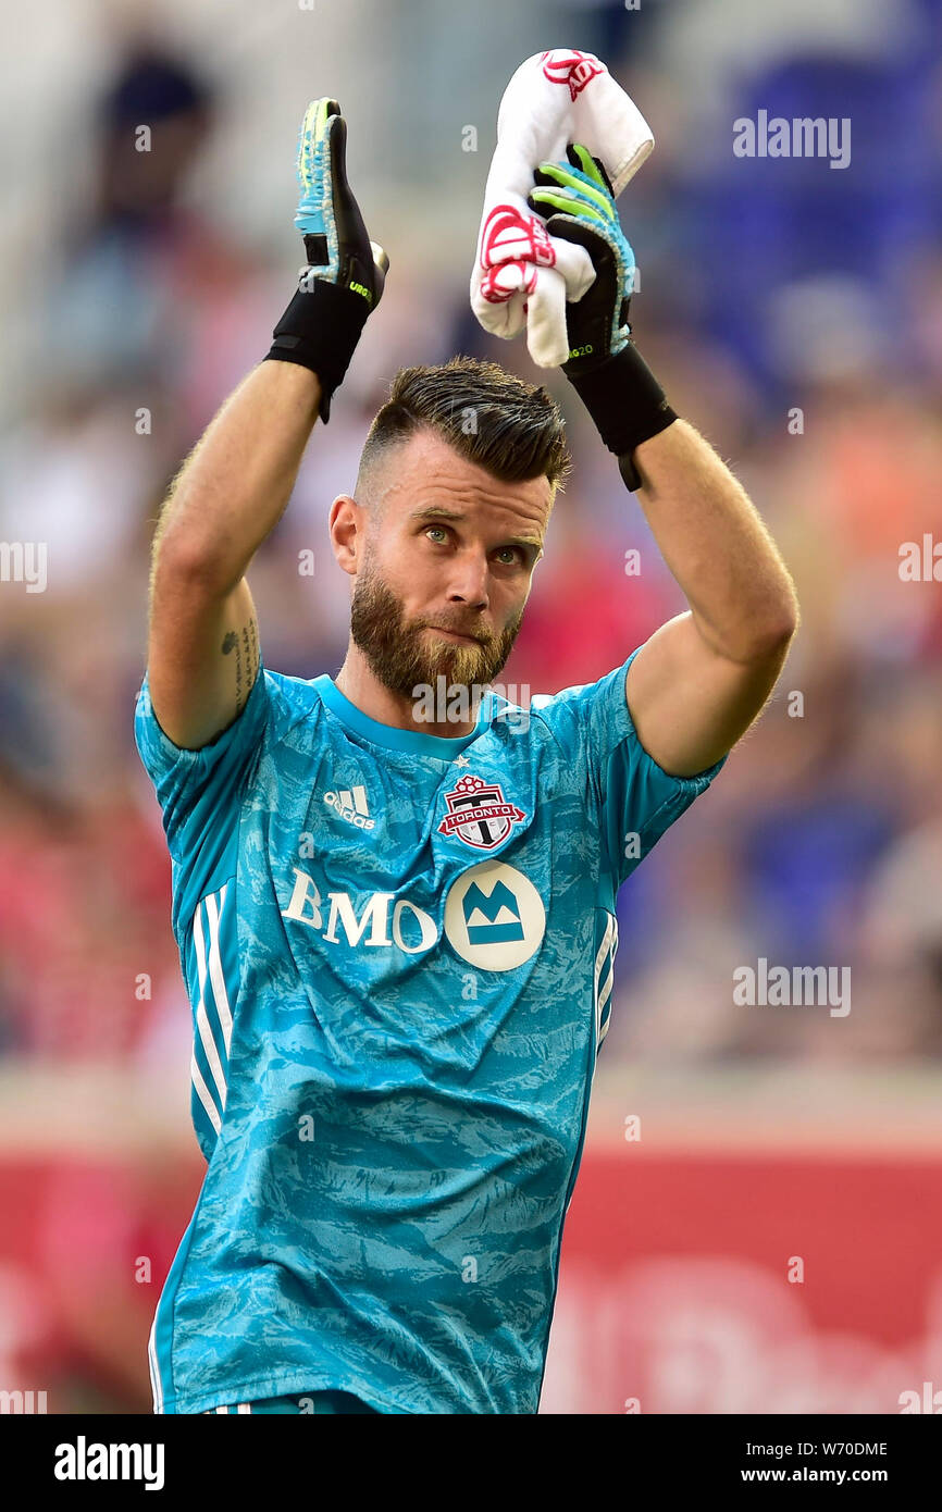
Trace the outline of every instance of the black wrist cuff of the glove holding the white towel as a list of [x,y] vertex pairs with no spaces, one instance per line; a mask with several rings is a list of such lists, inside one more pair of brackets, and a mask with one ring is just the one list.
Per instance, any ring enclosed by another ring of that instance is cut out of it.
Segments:
[[665,431],[677,419],[641,352],[634,342],[629,342],[614,357],[594,367],[567,372],[564,364],[562,372],[582,399],[609,452],[618,458],[626,485],[632,491],[640,488],[641,479],[631,454],[641,442]]

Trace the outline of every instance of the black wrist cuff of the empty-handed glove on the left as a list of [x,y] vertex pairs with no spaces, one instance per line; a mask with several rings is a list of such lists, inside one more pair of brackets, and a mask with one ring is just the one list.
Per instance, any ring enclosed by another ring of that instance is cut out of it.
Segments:
[[330,420],[334,390],[343,383],[346,369],[363,334],[369,304],[361,293],[310,280],[310,292],[299,287],[274,330],[274,342],[263,361],[275,358],[310,367],[321,383],[319,414]]

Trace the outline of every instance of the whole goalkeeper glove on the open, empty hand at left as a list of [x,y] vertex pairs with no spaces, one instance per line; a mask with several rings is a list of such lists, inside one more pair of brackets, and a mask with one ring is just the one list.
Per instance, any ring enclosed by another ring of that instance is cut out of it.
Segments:
[[274,330],[266,358],[298,363],[318,373],[319,414],[327,425],[366,325],[383,296],[389,257],[369,239],[346,180],[346,121],[336,100],[311,100],[298,142],[301,201],[295,225],[307,268]]

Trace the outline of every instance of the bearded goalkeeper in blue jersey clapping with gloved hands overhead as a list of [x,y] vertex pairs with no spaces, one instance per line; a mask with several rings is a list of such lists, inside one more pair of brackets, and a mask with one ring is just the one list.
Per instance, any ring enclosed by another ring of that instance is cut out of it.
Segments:
[[396,373],[330,508],[343,667],[265,667],[246,572],[389,266],[345,142],[337,103],[315,101],[298,292],[154,537],[135,735],[174,862],[207,1161],[154,1315],[154,1411],[532,1414],[615,895],[758,717],[797,608],[631,340],[631,248],[575,144],[531,201],[596,268],[564,370],[688,611],[526,720],[478,697],[570,463],[544,389],[452,358]]

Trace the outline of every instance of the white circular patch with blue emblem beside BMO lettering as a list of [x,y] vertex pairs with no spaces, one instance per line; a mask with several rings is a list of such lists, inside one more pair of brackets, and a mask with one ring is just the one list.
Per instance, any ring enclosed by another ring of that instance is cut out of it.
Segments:
[[482,860],[449,888],[445,934],[472,966],[513,971],[535,954],[544,933],[543,898],[516,866]]

